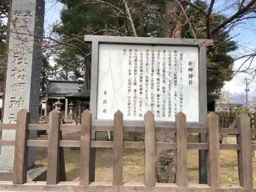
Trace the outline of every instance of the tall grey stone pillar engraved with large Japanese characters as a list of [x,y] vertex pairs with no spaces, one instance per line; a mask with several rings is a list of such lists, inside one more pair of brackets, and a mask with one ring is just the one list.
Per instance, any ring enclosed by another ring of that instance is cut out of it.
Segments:
[[[44,12],[44,0],[12,0],[4,123],[15,123],[21,109],[30,111],[31,123],[38,123]],[[15,140],[14,130],[2,131],[3,140]],[[30,139],[36,139],[36,131],[30,131]],[[35,147],[29,147],[29,167],[35,155]],[[0,172],[12,172],[13,161],[14,146],[2,146]]]

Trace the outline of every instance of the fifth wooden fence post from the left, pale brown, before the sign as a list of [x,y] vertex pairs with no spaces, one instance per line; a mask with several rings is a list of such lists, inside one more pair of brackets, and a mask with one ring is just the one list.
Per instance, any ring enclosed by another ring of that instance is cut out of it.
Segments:
[[144,115],[145,126],[145,170],[144,170],[144,184],[146,186],[155,186],[156,184],[156,170],[155,170],[155,117],[154,113],[148,111]]

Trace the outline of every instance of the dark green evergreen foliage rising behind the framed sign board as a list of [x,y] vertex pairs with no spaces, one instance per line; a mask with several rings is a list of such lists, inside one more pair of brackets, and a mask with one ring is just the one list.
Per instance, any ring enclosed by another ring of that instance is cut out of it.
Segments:
[[[65,78],[65,69],[69,71],[71,79],[83,77],[82,67],[79,60],[90,52],[90,47],[83,42],[84,34],[94,35],[117,35],[132,36],[131,22],[123,15],[124,6],[120,1],[111,0],[105,3],[101,1],[90,3],[90,0],[58,0],[64,5],[61,11],[61,23],[54,27],[54,32],[59,34],[63,41],[68,42],[63,50],[58,54],[58,69],[63,68],[61,78]],[[100,3],[101,2],[101,3]],[[109,4],[109,5],[108,5]],[[203,1],[194,3],[202,10],[207,11],[208,5]],[[131,12],[133,24],[139,36],[166,37],[163,30],[166,22],[166,1],[134,1],[130,3],[133,7]],[[211,29],[220,25],[226,17],[216,15],[211,18]],[[204,15],[193,6],[189,6],[186,11],[189,21],[184,14],[179,18],[180,36],[184,38],[206,38],[206,25]],[[195,26],[191,29],[190,26]],[[196,36],[195,36],[196,35]],[[224,82],[231,80],[233,58],[228,52],[237,49],[234,41],[228,40],[229,34],[225,30],[212,37],[215,40],[215,47],[207,54],[207,96],[208,101],[218,98]],[[224,43],[223,43],[224,42]],[[221,44],[218,46],[218,44]],[[79,58],[79,59],[78,59]],[[89,63],[90,64],[90,63]]]

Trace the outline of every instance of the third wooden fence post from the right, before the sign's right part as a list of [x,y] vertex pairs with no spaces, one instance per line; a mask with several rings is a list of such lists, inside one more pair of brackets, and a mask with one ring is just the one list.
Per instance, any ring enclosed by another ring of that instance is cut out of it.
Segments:
[[176,117],[176,184],[187,187],[187,122],[186,115],[179,112]]

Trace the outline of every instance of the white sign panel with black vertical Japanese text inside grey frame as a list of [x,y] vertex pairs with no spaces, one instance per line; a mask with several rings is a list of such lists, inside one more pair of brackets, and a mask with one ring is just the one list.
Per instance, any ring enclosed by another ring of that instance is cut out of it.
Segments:
[[99,45],[97,117],[143,120],[150,110],[156,121],[175,121],[182,111],[199,122],[197,47]]

